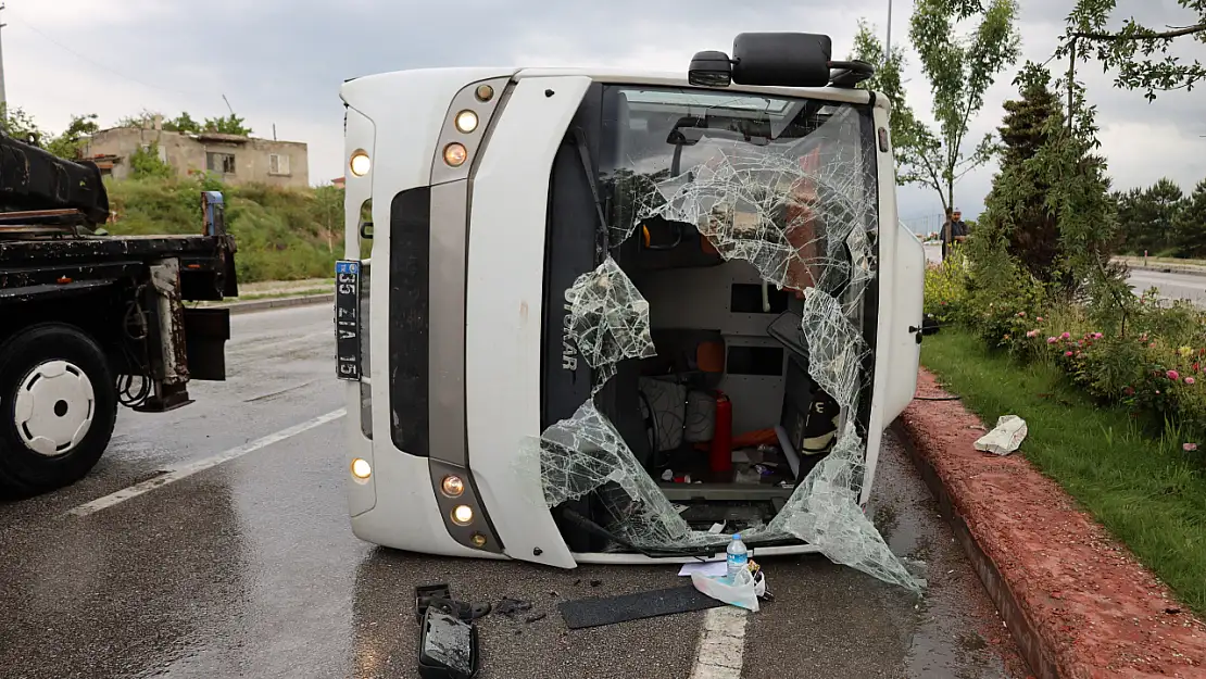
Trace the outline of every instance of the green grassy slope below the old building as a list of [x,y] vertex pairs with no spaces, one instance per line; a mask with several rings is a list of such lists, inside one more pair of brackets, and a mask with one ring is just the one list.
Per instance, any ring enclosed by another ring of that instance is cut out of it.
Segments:
[[344,256],[344,189],[223,186],[213,180],[146,177],[106,180],[115,234],[195,234],[201,230],[204,189],[221,191],[227,228],[239,252],[239,280],[292,281],[328,277]]

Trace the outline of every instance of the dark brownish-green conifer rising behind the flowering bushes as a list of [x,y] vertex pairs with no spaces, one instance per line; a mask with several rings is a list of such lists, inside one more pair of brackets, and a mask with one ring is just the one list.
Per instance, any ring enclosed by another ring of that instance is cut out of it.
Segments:
[[[977,239],[1003,247],[1030,274],[1042,281],[1059,277],[1059,224],[1047,209],[1050,186],[1031,160],[1059,134],[1064,115],[1059,96],[1040,78],[1015,80],[1020,99],[1005,103],[1006,115],[999,128],[1002,142],[1001,169],[985,199]],[[1060,281],[1067,286],[1066,280]]]

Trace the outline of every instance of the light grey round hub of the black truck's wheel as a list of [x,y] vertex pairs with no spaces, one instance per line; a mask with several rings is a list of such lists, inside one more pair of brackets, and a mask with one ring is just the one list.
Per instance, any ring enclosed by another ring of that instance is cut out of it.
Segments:
[[17,435],[34,452],[70,452],[88,434],[96,412],[92,380],[66,361],[47,361],[17,387],[13,420]]

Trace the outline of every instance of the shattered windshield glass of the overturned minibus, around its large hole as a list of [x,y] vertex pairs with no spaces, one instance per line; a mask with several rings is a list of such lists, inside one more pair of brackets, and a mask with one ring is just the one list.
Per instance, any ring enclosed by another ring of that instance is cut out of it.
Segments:
[[[796,538],[837,563],[919,590],[862,511],[876,310],[878,181],[870,107],[686,88],[605,87],[599,185],[602,263],[564,292],[567,335],[595,369],[596,394],[624,361],[657,353],[650,304],[613,256],[654,222],[687,224],[725,261],[753,265],[795,298],[784,338],[842,410],[832,450],[748,543]],[[648,234],[645,234],[648,239]],[[865,316],[868,322],[865,323]],[[790,336],[789,336],[790,335]],[[619,546],[648,555],[720,548],[660,490],[596,398],[521,444],[544,504],[593,493]],[[534,463],[537,462],[538,463]],[[529,472],[528,472],[529,473]]]

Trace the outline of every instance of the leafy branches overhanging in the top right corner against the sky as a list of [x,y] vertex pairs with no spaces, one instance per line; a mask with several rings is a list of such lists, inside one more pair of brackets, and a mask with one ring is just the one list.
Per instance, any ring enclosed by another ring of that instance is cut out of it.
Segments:
[[[1169,51],[1178,39],[1206,42],[1206,2],[1177,2],[1189,11],[1187,19],[1190,23],[1187,25],[1154,30],[1131,17],[1123,22],[1120,30],[1110,31],[1106,30],[1106,23],[1116,0],[1077,0],[1067,17],[1067,28],[1056,55],[1069,57],[1073,66],[1077,59],[1095,58],[1106,72],[1117,69],[1117,87],[1143,89],[1148,101],[1155,99],[1157,90],[1193,89],[1194,83],[1206,78],[1206,68],[1196,59],[1192,64],[1182,63]],[[1136,54],[1144,58],[1138,59]],[[1163,59],[1153,60],[1153,54],[1160,54]]]

